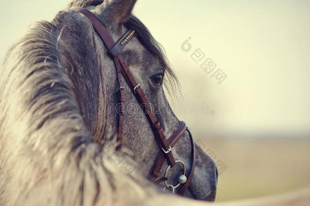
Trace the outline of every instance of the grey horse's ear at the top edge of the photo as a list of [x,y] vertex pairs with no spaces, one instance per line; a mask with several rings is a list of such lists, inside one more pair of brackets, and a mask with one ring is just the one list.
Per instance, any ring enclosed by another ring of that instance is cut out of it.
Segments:
[[118,23],[126,22],[136,4],[137,0],[105,0],[105,11]]

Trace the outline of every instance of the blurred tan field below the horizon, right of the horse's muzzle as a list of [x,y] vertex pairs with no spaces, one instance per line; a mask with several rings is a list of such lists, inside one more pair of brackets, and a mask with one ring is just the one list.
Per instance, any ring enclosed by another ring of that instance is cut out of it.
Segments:
[[[196,141],[199,136],[195,137]],[[202,139],[227,169],[219,176],[216,201],[260,197],[310,186],[310,139]]]

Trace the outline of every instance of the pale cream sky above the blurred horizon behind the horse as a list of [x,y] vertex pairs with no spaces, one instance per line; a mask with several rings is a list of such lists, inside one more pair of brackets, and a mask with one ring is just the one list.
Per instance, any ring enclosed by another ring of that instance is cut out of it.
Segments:
[[[68,2],[0,2],[0,61],[31,22]],[[300,0],[138,0],[133,13],[166,50],[181,85],[169,99],[190,128],[294,136],[310,134],[309,11]]]

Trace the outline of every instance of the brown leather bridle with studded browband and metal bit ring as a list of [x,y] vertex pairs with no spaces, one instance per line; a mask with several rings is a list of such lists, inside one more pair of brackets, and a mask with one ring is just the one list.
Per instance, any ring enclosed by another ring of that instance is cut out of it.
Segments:
[[[114,64],[116,66],[116,72],[117,72],[117,80],[119,85],[119,97],[118,97],[118,112],[119,112],[119,121],[118,121],[118,136],[117,141],[118,145],[116,147],[116,150],[120,150],[121,148],[121,139],[122,139],[122,125],[123,125],[123,104],[125,102],[124,97],[124,90],[125,87],[123,86],[122,76],[125,78],[127,84],[129,85],[131,91],[133,92],[134,96],[138,100],[142,110],[144,111],[147,120],[152,128],[152,131],[154,133],[154,137],[157,141],[157,144],[159,145],[160,151],[156,157],[155,162],[153,163],[148,175],[147,179],[154,183],[165,183],[164,190],[166,188],[172,190],[172,193],[174,193],[174,190],[181,186],[181,189],[178,191],[178,194],[183,195],[185,190],[189,187],[191,184],[193,175],[194,175],[194,168],[195,168],[195,145],[194,140],[192,137],[191,132],[187,128],[184,122],[180,122],[177,130],[167,139],[164,135],[163,128],[161,127],[160,123],[157,121],[156,117],[151,111],[151,107],[147,101],[147,98],[144,94],[144,92],[141,89],[141,85],[138,84],[133,77],[132,73],[130,72],[126,62],[124,61],[122,55],[119,53],[120,50],[135,36],[135,30],[130,29],[128,30],[116,43],[114,43],[112,37],[107,32],[105,26],[100,22],[100,20],[92,14],[90,11],[78,8],[78,11],[84,14],[92,23],[95,30],[101,37],[102,41],[104,42],[105,46],[108,48],[108,54],[114,61]],[[191,139],[191,146],[192,146],[192,167],[190,170],[190,173],[188,176],[186,176],[186,166],[185,164],[177,160],[175,161],[171,149],[176,144],[176,142],[180,139],[180,137],[184,134],[185,131],[188,131]],[[165,171],[164,178],[158,179],[159,173],[161,171],[161,168],[167,160],[168,167]],[[176,163],[180,163],[183,166],[183,173],[179,176],[178,181],[179,184],[176,186],[173,186],[171,184],[168,184],[168,178],[167,173],[171,167],[173,167]],[[158,180],[157,180],[158,179]]]

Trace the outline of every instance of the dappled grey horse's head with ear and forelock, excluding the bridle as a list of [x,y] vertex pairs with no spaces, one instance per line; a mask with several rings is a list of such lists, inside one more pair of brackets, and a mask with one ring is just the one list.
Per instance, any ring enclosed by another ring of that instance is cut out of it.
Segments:
[[[136,36],[132,37],[128,43],[126,42],[126,46],[119,53],[127,63],[134,79],[142,87],[150,103],[151,110],[158,122],[160,122],[165,135],[169,137],[177,130],[180,121],[169,106],[163,85],[174,86],[177,84],[177,79],[160,44],[154,40],[143,23],[131,14],[135,3],[136,1],[97,1],[86,8],[105,25],[114,42],[123,38],[122,35],[129,29],[135,31]],[[76,4],[75,6],[80,5]],[[81,40],[83,44],[79,43],[80,48],[75,49],[79,53],[77,59],[81,60],[77,64],[85,64],[84,61],[87,58],[90,64],[83,67],[85,69],[93,67],[92,70],[97,70],[100,73],[98,76],[92,76],[92,81],[100,82],[99,88],[101,89],[99,89],[99,93],[102,95],[98,98],[101,112],[98,113],[97,119],[94,121],[95,126],[90,126],[90,128],[94,128],[92,131],[95,135],[94,141],[101,144],[106,144],[111,140],[115,142],[118,135],[117,125],[119,124],[119,105],[117,104],[119,85],[115,64],[90,21],[81,14],[75,14],[75,16],[75,21],[72,22],[71,26],[85,33],[83,34],[83,40]],[[72,41],[74,42],[70,47],[74,48],[77,46],[75,45],[76,40],[73,39]],[[86,50],[88,50],[87,53],[91,57],[83,57]],[[122,80],[125,82],[125,79]],[[127,151],[130,151],[128,155],[137,162],[144,175],[149,176],[149,169],[153,166],[161,148],[154,139],[148,120],[140,108],[135,94],[131,92],[128,82],[125,83],[123,89],[125,89],[126,101],[123,104],[122,111],[125,113],[122,124],[122,145]],[[188,168],[187,174],[192,166],[193,155],[189,135],[188,132],[185,132],[172,149],[174,158],[183,161],[186,168]],[[195,148],[197,151],[196,168],[192,183],[189,190],[185,192],[185,196],[214,200],[218,171],[212,159],[197,144],[195,144]],[[165,163],[165,166],[168,166],[167,163]],[[157,175],[163,177],[164,173],[165,170],[161,169]],[[168,182],[176,185],[178,176],[181,173],[181,164],[170,169],[167,176]],[[161,184],[163,187],[165,186],[163,183]],[[176,188],[176,190],[179,190],[179,188]]]

